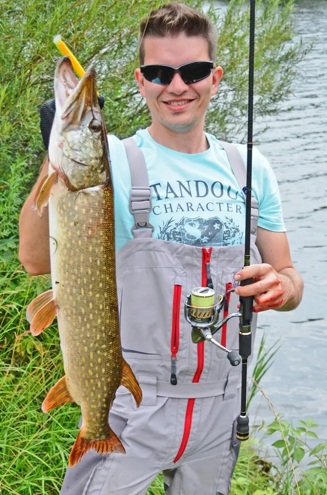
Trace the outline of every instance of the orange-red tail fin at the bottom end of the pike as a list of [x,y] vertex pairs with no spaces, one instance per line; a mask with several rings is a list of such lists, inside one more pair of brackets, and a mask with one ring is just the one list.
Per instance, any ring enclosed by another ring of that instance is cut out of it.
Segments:
[[108,426],[108,435],[104,440],[86,440],[83,438],[83,427],[77,435],[75,444],[70,452],[68,466],[73,467],[80,462],[83,455],[89,450],[96,450],[98,454],[110,454],[111,452],[120,452],[125,454],[125,448],[117,435]]

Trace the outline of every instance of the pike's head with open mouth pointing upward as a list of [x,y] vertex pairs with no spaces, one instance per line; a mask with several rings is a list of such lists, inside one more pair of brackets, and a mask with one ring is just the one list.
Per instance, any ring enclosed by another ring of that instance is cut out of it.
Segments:
[[89,67],[79,80],[69,57],[62,57],[55,70],[54,95],[56,113],[48,150],[52,169],[71,191],[109,184],[107,138],[95,69]]

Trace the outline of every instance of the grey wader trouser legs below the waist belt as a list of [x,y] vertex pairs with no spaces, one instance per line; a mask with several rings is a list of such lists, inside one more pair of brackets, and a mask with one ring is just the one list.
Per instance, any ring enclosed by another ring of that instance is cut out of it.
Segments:
[[89,452],[67,470],[60,495],[145,495],[160,471],[166,495],[228,495],[239,448],[231,428],[236,396],[196,400],[189,447],[176,464],[187,399],[145,393],[137,409],[129,393],[117,396],[109,424],[126,454]]

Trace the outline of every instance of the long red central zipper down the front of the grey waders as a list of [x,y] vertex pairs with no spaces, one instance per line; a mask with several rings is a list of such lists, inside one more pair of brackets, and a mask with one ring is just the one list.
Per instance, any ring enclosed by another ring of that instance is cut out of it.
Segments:
[[[202,287],[207,286],[206,263],[210,263],[211,251],[212,251],[212,247],[209,247],[208,249],[206,247],[202,247],[202,281],[201,281]],[[197,344],[197,368],[192,383],[199,382],[203,370],[203,364],[204,364],[204,342],[200,342],[199,344]],[[177,452],[177,455],[173,460],[174,463],[176,463],[181,458],[187,446],[189,433],[191,431],[191,426],[192,426],[192,414],[193,414],[194,402],[195,399],[188,399],[187,401],[183,438],[180,448]]]

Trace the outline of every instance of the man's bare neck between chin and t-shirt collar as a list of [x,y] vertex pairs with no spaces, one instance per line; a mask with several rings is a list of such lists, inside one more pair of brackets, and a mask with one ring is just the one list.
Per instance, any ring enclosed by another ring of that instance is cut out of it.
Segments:
[[148,131],[156,143],[180,153],[202,153],[209,148],[202,126],[195,127],[186,133],[177,133],[152,122]]

